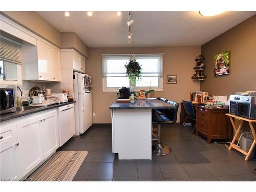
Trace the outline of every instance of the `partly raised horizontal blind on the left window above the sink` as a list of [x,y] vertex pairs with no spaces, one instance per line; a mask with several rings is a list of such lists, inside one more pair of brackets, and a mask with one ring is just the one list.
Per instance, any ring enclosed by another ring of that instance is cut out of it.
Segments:
[[22,63],[21,45],[7,37],[0,36],[0,59],[17,64]]

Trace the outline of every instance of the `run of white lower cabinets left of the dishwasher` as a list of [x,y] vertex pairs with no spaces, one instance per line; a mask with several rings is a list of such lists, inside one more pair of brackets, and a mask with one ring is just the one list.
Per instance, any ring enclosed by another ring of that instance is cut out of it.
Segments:
[[13,139],[0,144],[1,180],[24,178],[59,147],[57,109],[1,123],[1,133],[8,130]]

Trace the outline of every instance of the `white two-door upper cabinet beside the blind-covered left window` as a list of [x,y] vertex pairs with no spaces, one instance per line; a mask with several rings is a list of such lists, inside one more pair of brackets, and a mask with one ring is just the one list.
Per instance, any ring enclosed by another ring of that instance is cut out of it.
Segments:
[[22,46],[23,79],[61,81],[60,51],[46,42]]

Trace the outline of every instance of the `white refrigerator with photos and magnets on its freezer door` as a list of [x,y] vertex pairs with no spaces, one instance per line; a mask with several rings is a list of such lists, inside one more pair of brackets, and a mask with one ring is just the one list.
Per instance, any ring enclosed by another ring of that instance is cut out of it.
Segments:
[[75,135],[86,132],[92,126],[91,77],[86,74],[73,74],[75,102]]

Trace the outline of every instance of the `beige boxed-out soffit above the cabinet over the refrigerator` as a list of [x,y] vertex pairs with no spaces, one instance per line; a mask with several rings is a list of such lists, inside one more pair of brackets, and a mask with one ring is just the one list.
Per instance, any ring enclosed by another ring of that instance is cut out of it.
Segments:
[[87,45],[74,32],[61,33],[61,48],[73,48],[83,56],[89,57]]

